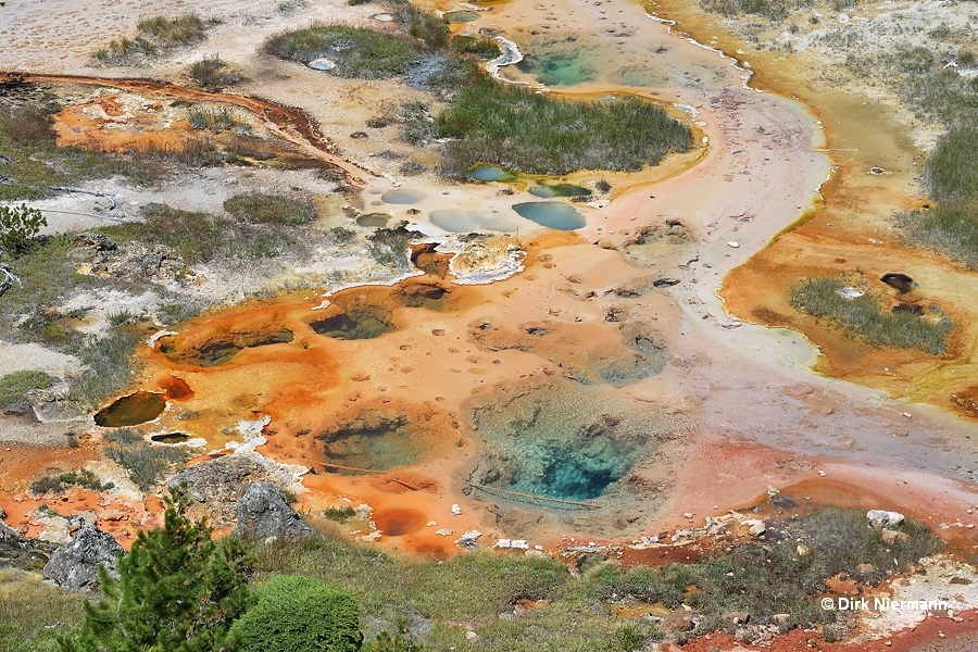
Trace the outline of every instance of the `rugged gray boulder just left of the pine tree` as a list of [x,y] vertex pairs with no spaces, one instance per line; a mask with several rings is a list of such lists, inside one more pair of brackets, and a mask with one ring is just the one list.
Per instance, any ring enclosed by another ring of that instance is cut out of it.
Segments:
[[105,566],[110,577],[118,578],[115,560],[122,550],[112,535],[93,525],[85,525],[71,541],[54,551],[43,574],[65,589],[96,591],[99,588],[99,566]]

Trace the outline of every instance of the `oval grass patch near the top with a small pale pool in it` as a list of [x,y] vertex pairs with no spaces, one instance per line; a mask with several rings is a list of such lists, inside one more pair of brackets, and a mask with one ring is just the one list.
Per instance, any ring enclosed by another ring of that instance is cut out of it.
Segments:
[[402,75],[426,51],[422,43],[405,36],[323,23],[274,36],[264,49],[271,54],[302,63],[325,57],[336,62],[335,74],[359,79],[387,79]]

